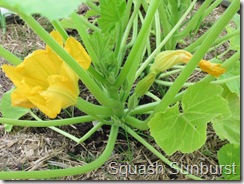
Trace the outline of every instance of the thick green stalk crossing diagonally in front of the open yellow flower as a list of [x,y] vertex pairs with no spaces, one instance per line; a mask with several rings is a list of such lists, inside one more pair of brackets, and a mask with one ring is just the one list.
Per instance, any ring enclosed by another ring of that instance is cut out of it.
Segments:
[[22,18],[28,23],[28,25],[45,41],[79,76],[86,87],[96,97],[99,103],[104,106],[114,106],[114,101],[108,98],[104,92],[98,87],[98,85],[90,78],[86,71],[84,71],[80,64],[75,61],[65,50],[62,48],[44,29],[43,27],[32,17],[25,15],[23,12],[18,12]]

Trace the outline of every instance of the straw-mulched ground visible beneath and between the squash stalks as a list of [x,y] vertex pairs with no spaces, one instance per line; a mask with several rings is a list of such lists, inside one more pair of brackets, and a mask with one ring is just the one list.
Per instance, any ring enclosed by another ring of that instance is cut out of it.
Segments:
[[[198,8],[199,4],[195,7]],[[218,19],[219,15],[224,11],[223,7],[218,7],[216,10],[205,20],[208,25],[214,23]],[[49,32],[52,30],[50,24],[44,18],[38,18],[38,21]],[[204,27],[206,26],[206,27]],[[200,36],[207,29],[207,24],[198,32]],[[224,33],[223,33],[224,34]],[[29,53],[36,49],[44,48],[44,43],[34,34],[31,29],[23,22],[13,22],[7,25],[7,33],[0,34],[0,44],[6,49],[16,54],[20,58],[24,58]],[[186,40],[187,44],[188,40]],[[185,45],[178,45],[179,48],[184,48]],[[223,52],[228,47],[228,43],[218,48],[217,52]],[[215,54],[215,53],[214,53]],[[231,54],[231,53],[230,53]],[[212,58],[213,55],[207,56]],[[228,57],[228,56],[226,56]],[[3,58],[0,58],[0,65],[7,63]],[[192,76],[191,81],[198,80],[202,77],[202,73]],[[169,80],[174,80],[176,76],[171,76]],[[0,98],[2,95],[13,87],[11,81],[0,70]],[[83,98],[94,103],[95,99],[89,94],[89,91],[84,88],[82,94]],[[153,92],[153,91],[152,91]],[[154,91],[155,92],[155,91]],[[157,93],[157,92],[155,92]],[[145,99],[147,100],[147,99]],[[74,116],[82,115],[75,108],[68,109]],[[44,117],[43,114],[38,112],[39,116]],[[67,118],[69,115],[67,111],[62,111],[58,118]],[[24,118],[30,118],[26,116]],[[45,118],[45,117],[44,117]],[[93,122],[94,123],[94,122]],[[93,127],[92,122],[59,127],[63,130],[81,137],[90,128]],[[145,136],[144,138],[155,148],[160,148],[155,144],[153,139],[148,136],[147,131],[141,132]],[[91,162],[97,158],[107,143],[109,135],[109,127],[105,126],[100,131],[97,131],[84,143],[77,145],[74,141],[54,132],[49,128],[23,128],[14,127],[10,133],[5,132],[4,125],[0,125],[0,171],[32,171],[32,170],[45,170],[45,169],[62,169],[74,166],[81,166]],[[207,130],[206,144],[199,150],[190,153],[182,154],[176,152],[172,156],[168,157],[172,162],[177,162],[184,165],[199,165],[200,163],[206,165],[217,165],[216,153],[226,141],[222,141],[214,133],[211,124]],[[128,142],[129,140],[129,142]],[[161,151],[162,152],[162,151]],[[163,153],[163,152],[162,152]],[[164,154],[164,153],[163,153]],[[165,154],[164,154],[165,155]],[[111,174],[108,170],[108,165],[111,162],[120,162],[121,164],[158,164],[168,171],[168,174],[158,175],[129,175],[123,174]],[[55,178],[59,180],[188,180],[182,174],[170,174],[172,171],[166,164],[161,162],[156,156],[149,152],[144,146],[134,140],[132,137],[120,131],[118,141],[116,143],[113,154],[110,159],[97,170],[92,172],[68,176],[63,178]],[[203,179],[214,180],[219,175],[198,175]]]

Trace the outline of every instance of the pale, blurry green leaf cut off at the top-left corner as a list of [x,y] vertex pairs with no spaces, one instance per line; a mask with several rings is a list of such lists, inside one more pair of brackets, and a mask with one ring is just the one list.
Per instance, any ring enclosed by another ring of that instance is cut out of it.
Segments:
[[41,14],[50,20],[68,17],[85,0],[0,0],[0,6],[25,14]]

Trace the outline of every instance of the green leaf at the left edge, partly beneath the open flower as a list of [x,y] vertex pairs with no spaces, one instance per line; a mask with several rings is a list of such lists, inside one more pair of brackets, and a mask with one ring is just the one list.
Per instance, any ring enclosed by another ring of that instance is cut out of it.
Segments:
[[[29,112],[29,109],[13,107],[11,105],[11,93],[12,90],[6,92],[3,95],[2,100],[0,102],[0,109],[4,118],[19,119],[23,115],[27,114]],[[4,125],[4,128],[7,132],[10,132],[12,130],[12,127],[13,125]]]

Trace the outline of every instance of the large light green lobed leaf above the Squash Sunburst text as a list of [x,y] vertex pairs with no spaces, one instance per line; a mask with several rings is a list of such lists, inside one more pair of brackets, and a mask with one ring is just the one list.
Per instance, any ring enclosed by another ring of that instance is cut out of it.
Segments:
[[176,104],[148,123],[157,144],[168,155],[199,149],[206,141],[207,123],[217,116],[230,116],[222,91],[221,86],[206,83],[189,87],[182,98],[181,111]]

